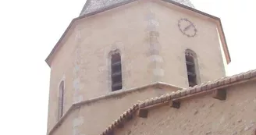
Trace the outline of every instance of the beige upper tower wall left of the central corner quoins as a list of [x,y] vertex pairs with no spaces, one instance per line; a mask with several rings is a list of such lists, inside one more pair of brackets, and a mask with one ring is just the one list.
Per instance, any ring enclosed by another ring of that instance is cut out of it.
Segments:
[[110,52],[116,49],[121,52],[123,90],[153,82],[140,8],[133,3],[73,24],[51,63],[48,130],[57,122],[62,80],[64,112],[73,103],[111,92]]

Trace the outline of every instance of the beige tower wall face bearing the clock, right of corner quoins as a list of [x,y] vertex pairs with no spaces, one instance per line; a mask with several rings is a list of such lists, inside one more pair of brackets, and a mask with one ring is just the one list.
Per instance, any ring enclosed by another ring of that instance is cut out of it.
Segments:
[[[152,16],[148,21],[155,24],[155,31],[158,32],[162,82],[188,87],[186,49],[197,54],[198,84],[226,76],[215,23],[196,14],[184,12],[170,3],[160,1],[158,4],[148,4],[148,6]],[[190,20],[194,24],[197,30],[194,37],[187,37],[180,31],[178,24],[181,19]]]

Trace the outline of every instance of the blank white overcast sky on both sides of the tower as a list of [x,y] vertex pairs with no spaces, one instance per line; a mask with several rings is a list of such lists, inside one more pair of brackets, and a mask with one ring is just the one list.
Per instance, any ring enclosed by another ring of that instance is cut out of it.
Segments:
[[[256,69],[254,0],[191,0],[222,19],[232,75]],[[50,68],[44,59],[86,0],[0,1],[1,134],[45,135]]]

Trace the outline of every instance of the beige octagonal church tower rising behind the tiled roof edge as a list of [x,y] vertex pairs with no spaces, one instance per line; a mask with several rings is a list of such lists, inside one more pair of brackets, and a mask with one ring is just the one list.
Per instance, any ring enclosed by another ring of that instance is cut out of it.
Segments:
[[189,0],[87,0],[46,62],[48,135],[97,135],[138,100],[226,76],[230,57]]

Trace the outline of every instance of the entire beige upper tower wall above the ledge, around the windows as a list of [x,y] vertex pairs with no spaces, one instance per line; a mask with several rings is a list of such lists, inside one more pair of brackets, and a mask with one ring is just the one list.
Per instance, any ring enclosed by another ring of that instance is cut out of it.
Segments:
[[[177,21],[183,17],[195,23],[197,37],[180,33]],[[224,76],[219,38],[212,22],[162,1],[132,2],[76,20],[52,56],[48,131],[57,123],[62,80],[64,112],[74,103],[112,92],[110,52],[116,49],[121,52],[122,91],[156,81],[187,87],[186,48],[197,52],[201,82]],[[111,104],[105,101],[106,106]],[[102,111],[104,108],[98,108]]]

